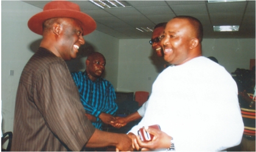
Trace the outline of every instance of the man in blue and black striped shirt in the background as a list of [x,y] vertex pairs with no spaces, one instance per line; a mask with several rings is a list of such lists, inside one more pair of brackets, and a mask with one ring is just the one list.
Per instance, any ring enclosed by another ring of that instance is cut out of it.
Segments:
[[84,72],[73,72],[72,77],[80,94],[86,116],[95,128],[102,130],[102,124],[113,125],[113,116],[118,109],[112,84],[101,78],[105,71],[105,57],[99,52],[88,55]]

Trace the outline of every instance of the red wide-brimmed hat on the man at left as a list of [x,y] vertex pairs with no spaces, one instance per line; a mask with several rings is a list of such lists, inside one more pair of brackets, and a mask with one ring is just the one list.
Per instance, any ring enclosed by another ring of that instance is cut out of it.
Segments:
[[77,4],[69,1],[52,1],[46,4],[43,12],[32,16],[27,22],[27,26],[32,32],[43,35],[43,22],[50,18],[74,18],[82,22],[84,35],[96,29],[96,22],[91,16],[80,12]]

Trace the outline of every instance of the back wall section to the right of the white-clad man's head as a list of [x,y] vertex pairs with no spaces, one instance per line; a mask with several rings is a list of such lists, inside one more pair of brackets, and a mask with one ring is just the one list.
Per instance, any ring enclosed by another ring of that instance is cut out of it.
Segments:
[[255,38],[204,39],[202,53],[217,58],[230,74],[236,68],[249,69],[250,59],[255,59]]

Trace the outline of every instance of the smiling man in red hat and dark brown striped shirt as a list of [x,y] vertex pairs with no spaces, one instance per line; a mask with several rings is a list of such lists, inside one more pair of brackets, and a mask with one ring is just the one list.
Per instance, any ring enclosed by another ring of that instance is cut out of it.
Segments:
[[77,4],[52,1],[32,16],[29,29],[43,35],[40,47],[21,74],[16,94],[12,151],[80,151],[115,146],[132,150],[126,134],[100,131],[85,116],[65,60],[76,58],[83,35],[95,21]]

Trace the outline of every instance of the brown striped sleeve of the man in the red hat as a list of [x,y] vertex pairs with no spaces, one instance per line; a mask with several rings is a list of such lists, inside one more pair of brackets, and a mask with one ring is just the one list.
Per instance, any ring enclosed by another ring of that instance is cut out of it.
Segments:
[[[43,83],[42,83],[43,82]],[[63,63],[51,63],[35,83],[34,95],[44,123],[70,150],[80,151],[95,128],[85,117],[74,81]]]

